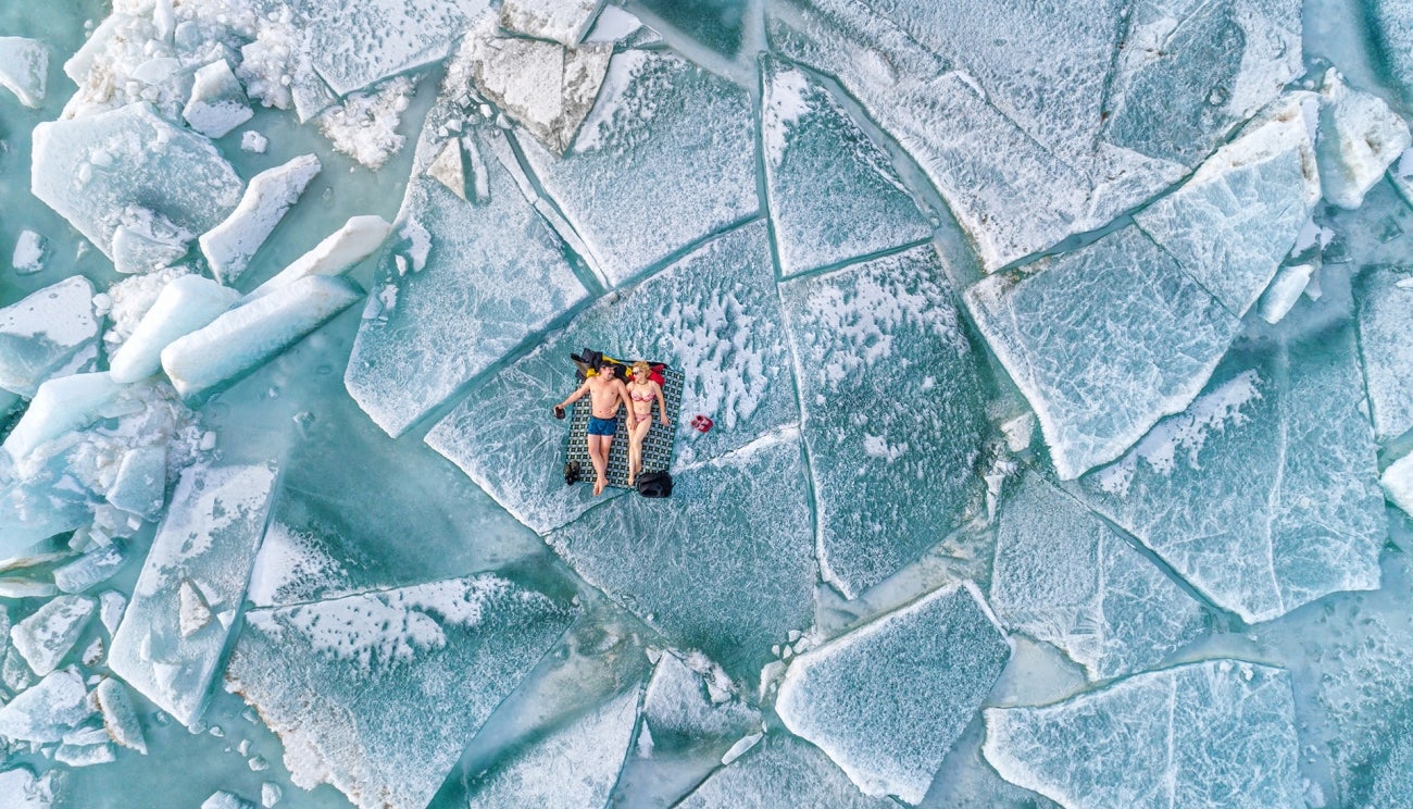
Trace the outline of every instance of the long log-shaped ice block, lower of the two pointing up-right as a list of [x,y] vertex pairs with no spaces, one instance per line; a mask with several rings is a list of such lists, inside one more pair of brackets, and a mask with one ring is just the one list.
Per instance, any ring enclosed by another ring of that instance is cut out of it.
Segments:
[[162,369],[182,396],[209,392],[264,365],[362,297],[343,277],[300,279],[175,339],[161,352]]

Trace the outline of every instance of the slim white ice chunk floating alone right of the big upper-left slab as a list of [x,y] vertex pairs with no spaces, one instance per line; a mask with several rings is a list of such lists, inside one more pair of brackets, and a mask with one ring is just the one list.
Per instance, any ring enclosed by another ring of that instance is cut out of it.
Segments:
[[300,199],[319,168],[322,165],[318,157],[301,154],[250,178],[250,185],[230,216],[201,235],[201,252],[216,280],[235,283],[246,272],[252,256]]

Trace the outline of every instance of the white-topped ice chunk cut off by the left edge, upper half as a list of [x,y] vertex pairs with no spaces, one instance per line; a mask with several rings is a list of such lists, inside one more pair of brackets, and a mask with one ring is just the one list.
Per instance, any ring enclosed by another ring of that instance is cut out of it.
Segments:
[[71,276],[0,308],[0,388],[34,396],[40,383],[97,338],[93,284]]

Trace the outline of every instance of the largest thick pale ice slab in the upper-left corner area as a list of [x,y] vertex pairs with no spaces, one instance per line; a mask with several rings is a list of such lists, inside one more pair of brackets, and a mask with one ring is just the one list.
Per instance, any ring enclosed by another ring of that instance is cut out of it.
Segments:
[[242,182],[209,140],[133,103],[37,126],[31,190],[112,257],[129,208],[203,233],[236,206]]

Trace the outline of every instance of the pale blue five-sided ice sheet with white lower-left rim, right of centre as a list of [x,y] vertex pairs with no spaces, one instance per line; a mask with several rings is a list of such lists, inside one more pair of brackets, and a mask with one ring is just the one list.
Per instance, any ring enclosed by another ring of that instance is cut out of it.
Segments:
[[1241,328],[1137,228],[986,277],[965,300],[1064,479],[1186,407]]

